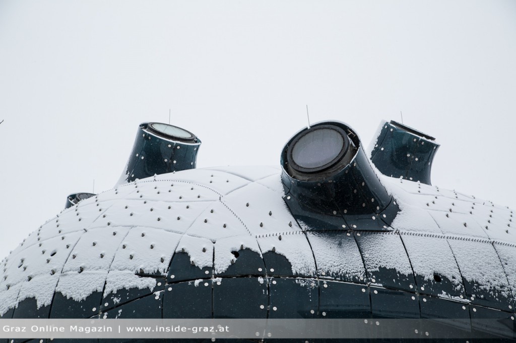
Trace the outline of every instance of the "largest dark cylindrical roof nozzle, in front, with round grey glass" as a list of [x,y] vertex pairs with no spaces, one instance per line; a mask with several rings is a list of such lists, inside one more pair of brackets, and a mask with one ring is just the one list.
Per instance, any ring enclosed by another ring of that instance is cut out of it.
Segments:
[[399,211],[344,123],[296,133],[283,148],[281,166],[284,200],[309,229],[386,230]]

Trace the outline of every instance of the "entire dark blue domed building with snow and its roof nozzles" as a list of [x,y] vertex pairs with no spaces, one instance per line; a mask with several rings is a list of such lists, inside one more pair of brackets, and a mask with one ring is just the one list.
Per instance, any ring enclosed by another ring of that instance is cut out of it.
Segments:
[[[385,122],[365,151],[321,122],[272,167],[197,169],[200,145],[140,125],[113,189],[69,196],[2,262],[2,318],[446,319],[443,341],[514,339],[514,211],[432,186],[431,136]],[[417,325],[404,337],[428,341]]]

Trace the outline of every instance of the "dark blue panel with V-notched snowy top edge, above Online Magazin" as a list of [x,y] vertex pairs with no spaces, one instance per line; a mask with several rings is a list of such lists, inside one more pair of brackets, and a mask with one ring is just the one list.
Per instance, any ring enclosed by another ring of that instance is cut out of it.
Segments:
[[102,292],[96,291],[86,299],[75,301],[61,293],[54,294],[50,318],[90,318],[99,313],[102,300]]

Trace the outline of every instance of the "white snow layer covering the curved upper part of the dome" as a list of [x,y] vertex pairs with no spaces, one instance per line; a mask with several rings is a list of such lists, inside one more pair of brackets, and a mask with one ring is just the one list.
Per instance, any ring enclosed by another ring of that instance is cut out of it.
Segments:
[[[439,272],[450,280],[461,280],[462,272],[483,287],[507,292],[509,281],[516,290],[511,210],[436,186],[380,180],[401,212],[392,232],[360,236],[369,271],[386,268],[411,275],[413,268],[426,279]],[[319,276],[365,278],[354,240],[305,232],[282,195],[279,168],[216,167],[136,180],[80,201],[4,259],[0,314],[29,297],[38,306],[48,304],[54,288],[85,299],[102,290],[106,278],[107,293],[124,287],[152,290],[155,280],[135,273],[165,275],[175,251],[188,253],[199,268],[215,266],[215,273],[228,268],[235,259],[232,251],[243,247],[285,256],[293,273],[315,275],[317,262]],[[458,265],[450,258],[452,251]],[[505,266],[497,262],[496,252]],[[501,277],[503,268],[509,280]]]

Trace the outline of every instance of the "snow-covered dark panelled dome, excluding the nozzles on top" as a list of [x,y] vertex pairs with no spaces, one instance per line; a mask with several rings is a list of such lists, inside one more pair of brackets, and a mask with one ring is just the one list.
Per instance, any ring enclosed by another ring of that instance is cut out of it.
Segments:
[[375,173],[399,208],[382,230],[296,220],[280,167],[120,184],[47,221],[2,261],[0,315],[513,321],[513,211]]

